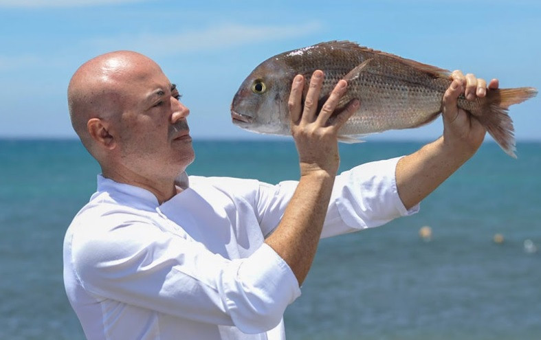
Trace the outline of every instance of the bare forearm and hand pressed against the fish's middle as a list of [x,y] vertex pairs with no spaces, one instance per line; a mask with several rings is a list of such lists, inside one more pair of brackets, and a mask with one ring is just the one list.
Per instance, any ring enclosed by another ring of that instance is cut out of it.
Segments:
[[291,133],[299,155],[300,181],[280,224],[265,240],[289,265],[299,284],[305,280],[316,255],[340,165],[338,130],[359,105],[358,102],[350,103],[329,121],[338,101],[346,92],[346,82],[338,82],[318,115],[316,111],[323,72],[313,73],[304,108],[301,109],[304,83],[302,76],[296,76],[289,95]]

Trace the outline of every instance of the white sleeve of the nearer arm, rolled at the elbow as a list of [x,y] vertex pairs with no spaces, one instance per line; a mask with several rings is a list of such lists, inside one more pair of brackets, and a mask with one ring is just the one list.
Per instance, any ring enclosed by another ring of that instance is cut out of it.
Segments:
[[[107,222],[114,225],[100,219]],[[228,260],[141,220],[100,230],[71,240],[75,275],[98,299],[259,333],[274,328],[300,295],[291,269],[265,244]]]

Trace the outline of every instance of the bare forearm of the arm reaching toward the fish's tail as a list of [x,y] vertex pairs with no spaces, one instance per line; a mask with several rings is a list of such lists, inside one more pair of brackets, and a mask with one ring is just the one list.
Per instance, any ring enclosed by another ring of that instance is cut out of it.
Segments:
[[443,137],[403,157],[397,163],[397,190],[406,209],[420,203],[459,169],[471,152],[445,145]]

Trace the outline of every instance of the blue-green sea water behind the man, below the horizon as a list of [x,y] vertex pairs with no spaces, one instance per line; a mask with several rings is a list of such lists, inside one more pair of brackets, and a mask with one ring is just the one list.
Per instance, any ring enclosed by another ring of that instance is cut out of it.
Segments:
[[[291,141],[194,146],[190,174],[298,178]],[[341,144],[340,168],[421,146]],[[285,313],[287,338],[541,339],[541,143],[517,148],[511,159],[485,143],[415,216],[322,240]],[[99,171],[79,141],[0,141],[0,339],[85,339],[63,287],[62,244]]]

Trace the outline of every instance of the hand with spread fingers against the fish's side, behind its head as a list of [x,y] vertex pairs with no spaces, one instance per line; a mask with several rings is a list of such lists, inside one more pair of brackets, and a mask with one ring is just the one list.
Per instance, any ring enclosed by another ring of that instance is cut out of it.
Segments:
[[289,118],[291,134],[295,139],[299,155],[301,176],[320,171],[326,172],[331,177],[335,176],[340,165],[338,131],[359,106],[358,100],[351,102],[344,111],[329,122],[329,117],[336,109],[340,98],[346,93],[347,83],[345,80],[340,80],[322,106],[320,113],[317,114],[323,78],[322,71],[313,72],[304,107],[302,107],[304,77],[296,76],[291,85],[288,102]]

